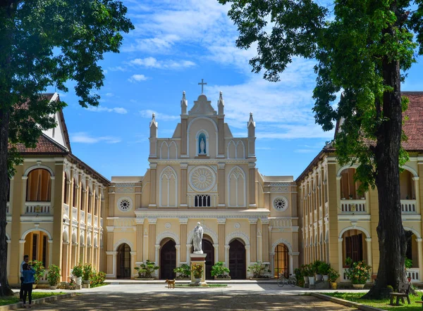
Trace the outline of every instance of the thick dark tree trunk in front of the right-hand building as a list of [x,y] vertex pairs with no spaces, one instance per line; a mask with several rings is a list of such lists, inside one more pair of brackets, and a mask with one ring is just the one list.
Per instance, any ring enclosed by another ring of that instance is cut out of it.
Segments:
[[[388,63],[384,58],[384,83],[393,91],[384,94],[382,122],[375,148],[376,186],[379,198],[379,224],[376,228],[379,240],[380,262],[376,284],[363,298],[384,298],[386,286],[398,288],[405,281],[405,252],[407,238],[401,219],[399,151],[403,113],[400,93],[400,64]],[[384,289],[385,288],[385,289]]]

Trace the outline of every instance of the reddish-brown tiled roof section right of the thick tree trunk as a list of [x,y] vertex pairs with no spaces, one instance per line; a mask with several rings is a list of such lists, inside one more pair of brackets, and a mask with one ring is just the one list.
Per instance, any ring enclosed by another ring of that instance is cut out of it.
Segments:
[[403,125],[407,141],[403,147],[407,151],[423,151],[423,91],[404,91],[403,95],[410,99],[404,115],[408,117]]

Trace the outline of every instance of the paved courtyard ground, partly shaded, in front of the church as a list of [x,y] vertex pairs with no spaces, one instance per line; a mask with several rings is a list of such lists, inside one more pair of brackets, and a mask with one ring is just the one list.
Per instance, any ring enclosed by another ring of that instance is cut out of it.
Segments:
[[34,310],[356,310],[312,296],[302,288],[234,284],[229,288],[175,288],[163,285],[108,285]]

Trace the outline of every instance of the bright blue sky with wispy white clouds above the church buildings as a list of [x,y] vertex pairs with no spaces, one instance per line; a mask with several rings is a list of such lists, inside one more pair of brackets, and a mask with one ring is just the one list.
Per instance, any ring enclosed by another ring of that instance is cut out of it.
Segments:
[[[255,56],[235,47],[237,30],[228,6],[216,0],[123,0],[135,30],[124,35],[121,53],[106,54],[106,79],[97,108],[81,108],[70,82],[63,111],[73,153],[106,178],[142,176],[148,167],[149,121],[156,113],[159,137],[171,137],[180,120],[180,99],[188,108],[204,94],[216,108],[219,91],[226,122],[235,137],[256,122],[257,167],[265,175],[294,178],[333,137],[314,124],[314,61],[295,59],[281,82],[251,72]],[[417,59],[403,90],[423,90],[423,58]]]

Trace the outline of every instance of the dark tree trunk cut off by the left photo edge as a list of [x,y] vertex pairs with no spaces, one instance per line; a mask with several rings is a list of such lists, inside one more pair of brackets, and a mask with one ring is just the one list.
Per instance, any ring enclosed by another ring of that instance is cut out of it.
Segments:
[[0,102],[0,296],[11,296],[13,292],[7,280],[6,203],[8,194],[8,125],[9,110]]

